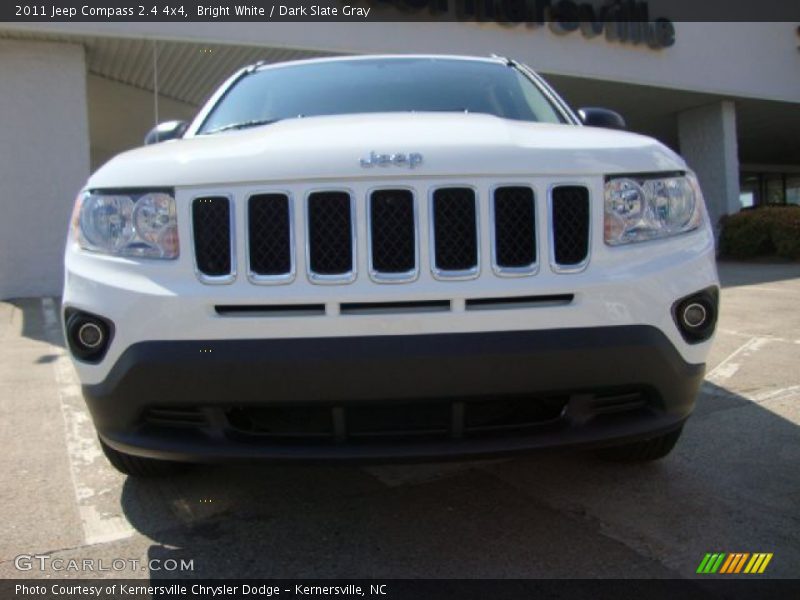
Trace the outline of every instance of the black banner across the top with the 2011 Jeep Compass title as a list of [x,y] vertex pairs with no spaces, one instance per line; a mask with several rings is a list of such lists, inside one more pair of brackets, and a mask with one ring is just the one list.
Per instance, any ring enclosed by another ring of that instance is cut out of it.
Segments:
[[800,0],[11,0],[0,3],[0,21],[472,21],[555,23],[565,31],[674,21],[795,21],[800,26]]

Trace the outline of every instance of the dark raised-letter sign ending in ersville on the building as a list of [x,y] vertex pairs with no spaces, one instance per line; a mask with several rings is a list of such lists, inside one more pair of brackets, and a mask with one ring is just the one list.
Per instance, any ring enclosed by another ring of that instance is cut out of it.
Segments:
[[675,44],[675,26],[651,18],[647,2],[609,0],[365,0],[379,11],[394,8],[420,21],[474,21],[530,28],[546,26],[557,35],[645,45],[654,50]]

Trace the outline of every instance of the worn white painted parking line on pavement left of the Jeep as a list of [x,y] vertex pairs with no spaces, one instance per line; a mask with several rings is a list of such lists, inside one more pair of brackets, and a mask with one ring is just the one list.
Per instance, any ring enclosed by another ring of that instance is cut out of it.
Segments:
[[[117,488],[119,481],[116,474],[105,468],[102,462],[96,463],[105,459],[83,404],[80,383],[67,353],[59,344],[61,331],[58,309],[52,298],[42,298],[42,315],[48,342],[56,356],[53,372],[64,419],[70,479],[83,527],[84,543],[92,545],[128,538],[134,532],[128,521],[121,514],[110,514],[102,509],[103,496]],[[116,506],[119,506],[118,502]]]

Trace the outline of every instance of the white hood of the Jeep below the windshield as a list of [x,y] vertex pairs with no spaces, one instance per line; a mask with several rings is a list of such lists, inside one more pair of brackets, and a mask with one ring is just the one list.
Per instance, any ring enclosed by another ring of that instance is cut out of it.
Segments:
[[[365,168],[371,153],[410,155],[410,168]],[[409,177],[504,178],[679,170],[658,141],[632,133],[482,114],[383,113],[289,119],[163,142],[120,154],[87,187],[211,186]]]

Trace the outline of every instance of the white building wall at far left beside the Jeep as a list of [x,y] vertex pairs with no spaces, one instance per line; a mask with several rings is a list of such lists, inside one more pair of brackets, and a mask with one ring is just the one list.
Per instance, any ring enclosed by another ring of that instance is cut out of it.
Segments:
[[0,115],[0,298],[58,294],[89,174],[83,47],[0,40]]

